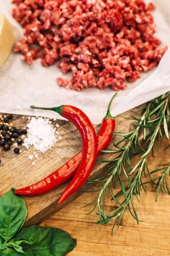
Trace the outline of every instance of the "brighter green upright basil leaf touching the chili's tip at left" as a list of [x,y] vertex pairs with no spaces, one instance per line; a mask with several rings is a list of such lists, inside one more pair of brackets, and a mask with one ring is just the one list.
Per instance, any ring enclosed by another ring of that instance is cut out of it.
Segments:
[[0,198],[0,236],[7,242],[20,230],[26,219],[24,199],[11,189]]

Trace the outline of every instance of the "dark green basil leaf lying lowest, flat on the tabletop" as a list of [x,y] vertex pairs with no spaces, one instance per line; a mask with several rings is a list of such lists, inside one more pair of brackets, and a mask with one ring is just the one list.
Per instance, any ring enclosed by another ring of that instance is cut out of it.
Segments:
[[21,244],[24,252],[30,256],[63,256],[76,246],[76,239],[57,228],[32,225],[22,229],[16,238],[28,239],[32,245]]

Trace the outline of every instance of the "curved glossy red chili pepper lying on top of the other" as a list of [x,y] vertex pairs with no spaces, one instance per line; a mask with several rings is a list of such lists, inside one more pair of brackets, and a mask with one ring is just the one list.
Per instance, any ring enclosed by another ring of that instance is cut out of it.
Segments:
[[[81,163],[78,166],[78,169],[74,175],[74,178],[68,184],[67,191],[65,193],[65,198],[69,197],[81,185],[87,180],[89,174],[92,171],[92,168],[96,162],[97,156],[97,137],[94,127],[83,111],[74,107],[63,105],[56,108],[40,108],[31,106],[31,108],[38,108],[44,110],[53,110],[59,115],[65,117],[66,119],[72,121],[72,123],[78,128],[81,138],[82,138],[82,159]],[[15,193],[17,191],[15,190]]]

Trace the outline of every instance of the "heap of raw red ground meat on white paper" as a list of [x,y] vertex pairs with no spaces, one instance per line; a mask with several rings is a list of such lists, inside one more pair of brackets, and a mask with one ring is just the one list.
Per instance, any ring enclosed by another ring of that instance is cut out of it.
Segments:
[[87,87],[118,91],[157,66],[167,47],[154,37],[155,6],[143,0],[13,0],[13,17],[24,39],[14,52],[32,64],[54,65],[72,79],[57,78],[68,90]]

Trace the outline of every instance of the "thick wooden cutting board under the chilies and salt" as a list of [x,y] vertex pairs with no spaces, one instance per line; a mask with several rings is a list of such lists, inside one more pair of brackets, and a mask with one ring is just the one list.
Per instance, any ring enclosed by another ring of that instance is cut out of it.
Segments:
[[[133,111],[136,110],[137,108],[133,109]],[[124,119],[124,117],[130,117],[131,113],[131,111],[128,111],[115,118],[116,132],[129,132],[133,129],[132,120]],[[13,115],[12,122],[13,126],[26,128],[29,118],[22,115]],[[45,153],[38,153],[38,159],[29,158],[35,151],[33,146],[28,149],[22,146],[22,152],[17,155],[13,152],[14,145],[11,146],[9,151],[4,151],[0,148],[0,196],[4,195],[4,193],[9,191],[12,187],[18,189],[23,186],[34,184],[55,171],[59,166],[63,165],[68,159],[81,150],[81,136],[70,121],[57,120],[52,121],[52,124],[54,124],[54,126],[59,124],[57,131],[62,139],[57,139],[57,143]],[[96,132],[98,132],[99,127],[100,125],[95,126]],[[113,140],[115,143],[117,142],[114,137]],[[113,148],[113,144],[111,143],[108,148]],[[102,153],[98,159],[113,159],[116,156],[117,155],[115,154]],[[32,164],[33,161],[35,162],[35,165]],[[103,175],[105,171],[107,171],[107,164],[96,162],[89,179],[99,177],[100,175]],[[24,196],[26,207],[28,209],[28,215],[24,226],[26,227],[32,224],[39,225],[80,195],[80,192],[76,192],[68,198],[68,200],[65,200],[61,205],[58,205],[57,201],[67,184],[68,183],[66,182],[53,191],[37,197]],[[81,190],[87,190],[91,186],[91,184],[84,184]]]

